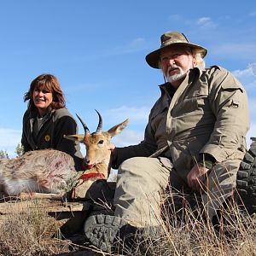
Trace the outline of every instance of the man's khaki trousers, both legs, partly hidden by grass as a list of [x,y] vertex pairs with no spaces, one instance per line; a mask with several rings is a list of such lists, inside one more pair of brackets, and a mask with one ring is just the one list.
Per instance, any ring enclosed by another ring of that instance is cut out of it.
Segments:
[[[226,160],[213,166],[209,172],[201,197],[210,219],[224,200],[232,195],[240,162]],[[166,158],[135,157],[125,160],[119,166],[113,199],[114,215],[137,227],[161,224],[161,195],[169,181],[174,189],[188,189],[187,181],[172,169],[171,161]]]

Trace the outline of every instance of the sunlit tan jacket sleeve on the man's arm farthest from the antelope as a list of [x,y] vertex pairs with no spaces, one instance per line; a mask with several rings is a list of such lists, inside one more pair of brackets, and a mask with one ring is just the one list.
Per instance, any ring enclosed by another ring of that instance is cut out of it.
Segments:
[[216,122],[201,153],[212,155],[218,162],[240,159],[245,153],[245,138],[249,129],[246,91],[224,68],[213,68],[208,81],[209,101]]

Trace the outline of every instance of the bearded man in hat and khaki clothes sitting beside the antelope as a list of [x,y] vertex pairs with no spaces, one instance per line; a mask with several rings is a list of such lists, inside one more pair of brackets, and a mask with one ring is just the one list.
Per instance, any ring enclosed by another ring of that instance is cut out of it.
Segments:
[[160,41],[146,61],[167,82],[160,85],[144,140],[113,147],[113,167],[119,167],[114,216],[91,216],[84,224],[85,236],[105,251],[128,233],[160,226],[161,194],[169,182],[201,194],[213,218],[232,195],[245,154],[249,116],[241,84],[223,67],[206,69],[207,49],[183,33],[166,32]]

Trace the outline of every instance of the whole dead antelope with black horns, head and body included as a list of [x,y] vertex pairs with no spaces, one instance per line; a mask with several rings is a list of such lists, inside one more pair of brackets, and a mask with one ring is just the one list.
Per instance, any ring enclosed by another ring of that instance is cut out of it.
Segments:
[[[33,194],[33,197],[57,199],[75,185],[79,196],[73,195],[73,197],[83,198],[86,189],[96,179],[107,179],[110,172],[111,154],[108,145],[111,137],[125,128],[128,119],[108,131],[102,131],[102,117],[100,113],[98,115],[99,123],[95,132],[90,134],[87,125],[78,116],[84,127],[84,134],[65,136],[85,144],[84,166],[87,171],[76,172],[73,158],[58,150],[44,149],[26,152],[16,159],[0,160],[0,186],[4,194],[19,196],[22,192],[38,192],[48,193],[48,195]],[[26,196],[24,195],[24,198]]]

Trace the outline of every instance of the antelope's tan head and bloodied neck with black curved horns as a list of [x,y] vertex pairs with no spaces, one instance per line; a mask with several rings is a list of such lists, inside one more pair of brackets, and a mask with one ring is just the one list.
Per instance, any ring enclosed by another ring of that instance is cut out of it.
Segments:
[[108,179],[111,169],[111,151],[108,149],[108,146],[111,143],[111,138],[123,131],[129,122],[129,119],[126,119],[119,125],[114,125],[108,131],[102,131],[102,116],[98,111],[96,113],[99,116],[99,123],[95,132],[90,133],[87,125],[85,125],[84,121],[77,114],[84,127],[84,134],[65,136],[67,139],[84,143],[86,149],[86,155],[84,157],[86,171],[82,174],[79,183],[73,190],[76,193],[76,195],[73,195],[75,198],[84,198],[87,189],[97,179]]

